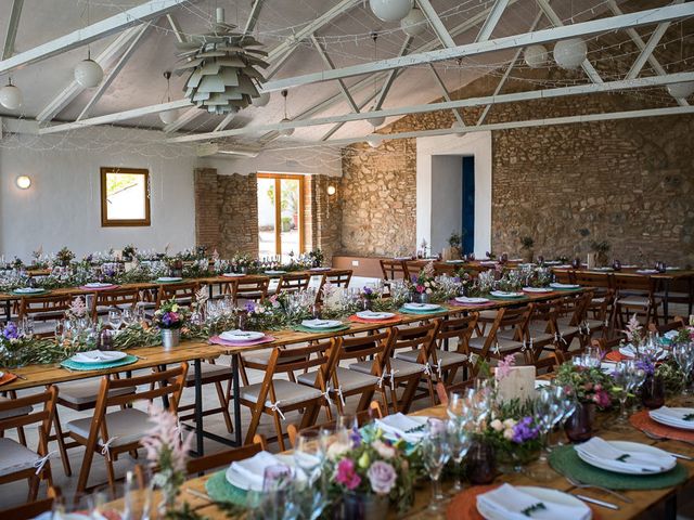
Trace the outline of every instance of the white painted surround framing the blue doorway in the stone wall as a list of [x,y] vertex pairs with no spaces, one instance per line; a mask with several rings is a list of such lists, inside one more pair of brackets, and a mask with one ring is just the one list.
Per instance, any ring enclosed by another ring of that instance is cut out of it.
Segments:
[[[417,138],[416,242],[421,244],[425,239],[430,244],[433,230],[438,226],[438,222],[433,219],[436,204],[434,193],[438,190],[438,181],[434,182],[436,171],[433,158],[455,156],[460,164],[461,157],[468,155],[475,157],[475,256],[483,257],[491,248],[491,132]],[[459,190],[458,193],[462,191]],[[462,198],[459,204],[461,206],[457,211],[461,216]],[[448,235],[450,231],[446,233]],[[437,252],[436,248],[434,252]]]

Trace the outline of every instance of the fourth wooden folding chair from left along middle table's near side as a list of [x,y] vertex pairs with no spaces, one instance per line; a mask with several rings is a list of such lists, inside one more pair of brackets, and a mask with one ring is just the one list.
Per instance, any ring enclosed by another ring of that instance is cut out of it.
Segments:
[[[385,363],[385,350],[387,348],[388,333],[376,333],[369,336],[340,338],[335,348],[339,349],[334,369],[329,374],[329,392],[336,403],[338,413],[345,412],[345,400],[351,395],[361,395],[357,412],[369,406],[376,390],[383,390],[383,366]],[[373,358],[373,360],[372,360]],[[355,361],[355,366],[361,365],[363,370],[357,370],[349,364]],[[344,362],[344,363],[343,363]],[[348,367],[339,366],[340,363]],[[316,373],[308,372],[297,377],[301,384],[313,385]],[[381,384],[381,385],[380,385]],[[385,402],[385,393],[382,393]]]

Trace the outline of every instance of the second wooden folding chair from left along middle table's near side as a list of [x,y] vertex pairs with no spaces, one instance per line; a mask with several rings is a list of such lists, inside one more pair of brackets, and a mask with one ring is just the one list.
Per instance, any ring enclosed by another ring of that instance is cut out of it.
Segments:
[[[188,363],[181,363],[175,368],[153,372],[130,379],[113,379],[108,375],[102,378],[93,417],[72,420],[66,425],[69,435],[86,448],[77,482],[78,492],[83,492],[87,489],[94,453],[104,456],[108,485],[114,490],[116,479],[113,461],[119,454],[137,453],[140,441],[153,427],[146,412],[133,407],[108,412],[108,407],[125,406],[133,402],[147,402],[149,404],[152,400],[162,398],[168,399],[168,411],[175,414],[178,410],[187,372]],[[129,386],[147,390],[138,391],[134,394],[111,395],[112,390]]]

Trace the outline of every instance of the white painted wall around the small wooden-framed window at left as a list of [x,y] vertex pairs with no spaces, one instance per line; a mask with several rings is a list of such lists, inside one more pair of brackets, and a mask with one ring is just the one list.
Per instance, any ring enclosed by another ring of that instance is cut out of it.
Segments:
[[[160,140],[160,133],[157,138]],[[195,242],[192,148],[153,142],[152,132],[92,129],[79,135],[4,135],[0,141],[0,255],[25,260],[39,246],[78,256],[132,243],[177,251]],[[102,227],[100,167],[147,168],[149,227]],[[15,185],[29,176],[31,187]]]

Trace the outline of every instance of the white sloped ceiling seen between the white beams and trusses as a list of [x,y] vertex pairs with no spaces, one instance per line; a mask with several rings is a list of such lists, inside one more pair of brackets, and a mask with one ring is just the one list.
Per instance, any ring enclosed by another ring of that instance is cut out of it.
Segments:
[[[138,0],[91,0],[90,22],[94,23],[120,13],[138,3],[142,2]],[[300,29],[336,3],[337,0],[266,0],[256,26],[257,38],[270,50],[281,43],[293,31]],[[321,41],[324,41],[327,53],[335,62],[336,67],[372,61],[374,58],[374,44],[369,35],[374,30],[381,34],[377,40],[378,58],[397,56],[399,53],[406,38],[404,34],[399,30],[399,25],[377,20],[371,13],[368,2],[364,3],[360,2],[351,11],[339,15],[333,23],[320,29],[316,35]],[[433,6],[441,15],[444,24],[449,29],[463,23],[474,13],[490,8],[492,3],[491,0],[432,0]],[[652,6],[658,6],[669,2],[654,0],[651,3],[653,3]],[[0,38],[3,37],[7,30],[11,4],[11,0],[0,1]],[[205,32],[209,29],[215,6],[226,8],[227,21],[243,26],[249,12],[250,0],[193,1],[175,9],[171,13],[176,16],[184,32]],[[560,17],[567,22],[571,18],[575,22],[582,22],[596,16],[605,9],[604,2],[601,0],[554,0],[552,6]],[[591,11],[591,8],[593,11]],[[15,52],[26,51],[85,26],[87,24],[86,10],[86,0],[24,0]],[[538,6],[535,0],[518,0],[504,12],[492,34],[492,38],[527,31],[537,14]],[[547,20],[543,20],[539,25],[539,28],[543,27],[549,27]],[[475,27],[457,36],[454,38],[455,43],[463,44],[473,41],[478,29],[479,27]],[[112,36],[92,43],[92,56],[101,52],[116,37]],[[421,36],[415,38],[413,49],[434,39],[436,39],[435,34],[430,27],[427,27]],[[166,101],[166,81],[163,78],[163,73],[176,67],[177,49],[175,43],[176,38],[166,17],[163,16],[153,22],[145,39],[105,94],[91,109],[89,116],[100,116]],[[0,115],[36,117],[70,82],[73,67],[80,60],[83,60],[86,54],[87,50],[82,48],[13,72],[13,82],[24,92],[24,106],[21,110],[14,113],[9,110],[3,113],[0,109]],[[451,64],[438,64],[437,69],[441,74],[447,88],[455,90],[490,69],[497,68],[510,60],[511,55],[509,53],[487,54],[475,62],[463,62],[461,69],[454,69],[455,67],[451,67]],[[273,79],[314,73],[324,68],[325,66],[310,40],[305,40],[280,68]],[[349,78],[346,82],[349,87],[362,79],[363,77]],[[4,82],[5,79],[0,78],[0,80]],[[171,98],[174,100],[182,96],[183,80],[184,78],[172,77]],[[380,88],[380,84],[377,87]],[[93,90],[83,91],[60,112],[54,120],[75,120],[91,98],[92,92]],[[335,81],[313,83],[294,89],[290,91],[288,95],[288,116],[290,118],[295,117],[319,102],[338,93],[338,86]],[[360,104],[370,93],[373,93],[373,87],[371,86],[355,92],[355,101]],[[428,103],[440,96],[440,88],[435,82],[428,67],[411,67],[407,68],[398,77],[386,98],[384,107]],[[313,117],[348,112],[350,112],[348,104],[345,101],[340,101],[332,107],[317,113]],[[266,107],[249,107],[242,110],[229,128],[268,125],[279,121],[282,117],[284,117],[282,98],[274,93],[271,102]],[[221,116],[207,116],[203,113],[202,116],[183,127],[182,131],[210,131],[221,119]],[[163,127],[156,115],[126,121],[126,123],[139,127]],[[281,139],[317,140],[327,132],[331,127],[332,125],[301,128],[297,129],[292,138]],[[333,139],[364,135],[371,130],[371,126],[365,121],[349,122],[337,131]],[[260,135],[261,133],[258,133],[255,138],[257,139]],[[254,135],[249,138],[254,138]]]

